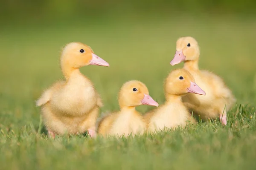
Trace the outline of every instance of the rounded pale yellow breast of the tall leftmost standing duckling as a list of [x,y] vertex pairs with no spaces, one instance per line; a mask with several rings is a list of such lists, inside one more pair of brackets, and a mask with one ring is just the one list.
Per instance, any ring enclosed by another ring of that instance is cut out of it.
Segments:
[[52,108],[57,112],[81,116],[95,105],[97,95],[93,84],[84,77],[70,77],[64,87],[52,96]]

